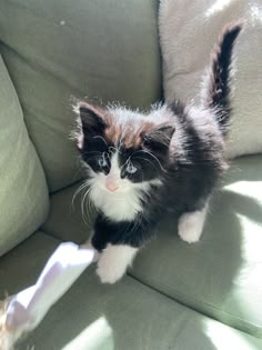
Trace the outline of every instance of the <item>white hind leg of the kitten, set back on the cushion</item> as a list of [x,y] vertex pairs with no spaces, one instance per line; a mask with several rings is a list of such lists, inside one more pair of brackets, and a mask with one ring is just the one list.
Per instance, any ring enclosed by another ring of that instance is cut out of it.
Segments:
[[199,241],[203,231],[208,206],[209,203],[206,201],[201,209],[184,212],[179,218],[178,233],[183,241],[188,243],[194,243]]

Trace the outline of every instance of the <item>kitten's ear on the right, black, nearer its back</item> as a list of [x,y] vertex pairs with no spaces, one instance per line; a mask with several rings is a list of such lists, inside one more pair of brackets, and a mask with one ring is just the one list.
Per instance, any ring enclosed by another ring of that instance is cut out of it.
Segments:
[[142,136],[143,146],[154,151],[167,151],[174,131],[175,128],[171,124],[153,129]]

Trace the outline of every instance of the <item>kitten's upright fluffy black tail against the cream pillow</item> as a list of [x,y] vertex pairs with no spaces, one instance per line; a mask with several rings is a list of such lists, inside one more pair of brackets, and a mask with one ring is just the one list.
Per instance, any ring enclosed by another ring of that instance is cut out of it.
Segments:
[[211,69],[204,83],[202,104],[214,110],[223,136],[230,122],[230,80],[232,51],[235,39],[243,28],[244,21],[230,23],[223,29],[219,43],[211,57]]

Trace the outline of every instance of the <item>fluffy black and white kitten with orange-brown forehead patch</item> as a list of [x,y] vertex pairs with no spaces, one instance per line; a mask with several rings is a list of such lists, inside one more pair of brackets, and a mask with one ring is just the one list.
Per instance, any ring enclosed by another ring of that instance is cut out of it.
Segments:
[[200,239],[209,199],[226,169],[231,57],[241,29],[235,22],[223,30],[198,107],[174,101],[141,113],[79,102],[78,149],[99,211],[91,242],[102,282],[124,274],[167,208],[179,216],[181,239]]

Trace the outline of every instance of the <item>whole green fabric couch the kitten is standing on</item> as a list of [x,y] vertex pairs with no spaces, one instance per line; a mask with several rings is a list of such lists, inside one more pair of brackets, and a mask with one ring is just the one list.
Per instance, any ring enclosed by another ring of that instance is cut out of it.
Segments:
[[[88,239],[72,104],[162,98],[157,19],[153,0],[0,1],[0,299]],[[231,162],[211,208],[195,244],[168,213],[115,284],[89,268],[18,349],[262,349],[261,154]]]

